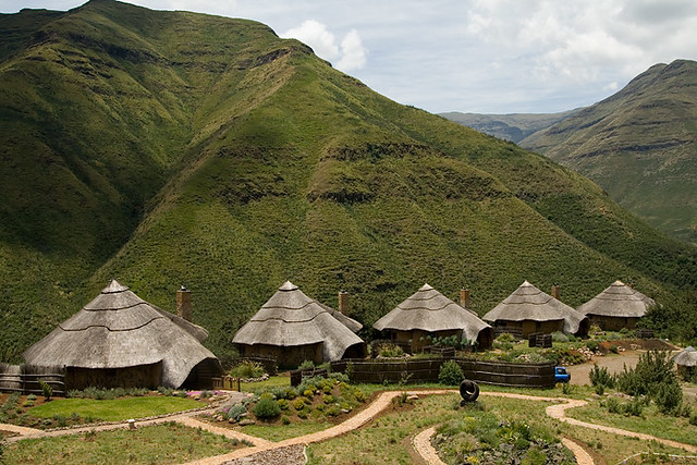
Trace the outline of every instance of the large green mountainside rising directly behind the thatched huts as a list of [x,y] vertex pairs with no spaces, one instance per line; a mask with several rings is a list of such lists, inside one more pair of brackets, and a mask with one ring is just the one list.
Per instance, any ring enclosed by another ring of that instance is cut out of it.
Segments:
[[185,284],[220,355],[286,279],[367,327],[424,282],[480,314],[524,279],[697,287],[693,247],[588,180],[261,24],[106,0],[0,24],[0,359],[112,277],[170,310]]

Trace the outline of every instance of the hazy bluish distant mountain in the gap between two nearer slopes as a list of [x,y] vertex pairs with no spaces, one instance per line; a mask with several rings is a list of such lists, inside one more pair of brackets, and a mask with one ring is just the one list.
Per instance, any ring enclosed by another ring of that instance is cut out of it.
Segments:
[[563,113],[479,114],[452,111],[441,117],[490,136],[518,143],[525,137],[563,121],[578,110]]

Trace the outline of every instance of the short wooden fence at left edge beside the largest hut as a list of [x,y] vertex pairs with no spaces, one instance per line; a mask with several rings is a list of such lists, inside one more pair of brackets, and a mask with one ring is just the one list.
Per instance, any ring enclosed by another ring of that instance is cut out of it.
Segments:
[[41,394],[39,381],[53,389],[53,395],[65,395],[65,368],[0,363],[0,392]]

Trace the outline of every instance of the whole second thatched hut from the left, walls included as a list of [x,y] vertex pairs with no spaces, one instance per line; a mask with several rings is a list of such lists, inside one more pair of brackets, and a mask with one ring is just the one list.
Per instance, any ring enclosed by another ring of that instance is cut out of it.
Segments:
[[279,365],[364,357],[354,331],[363,325],[305,295],[290,281],[234,335],[243,355],[271,356]]

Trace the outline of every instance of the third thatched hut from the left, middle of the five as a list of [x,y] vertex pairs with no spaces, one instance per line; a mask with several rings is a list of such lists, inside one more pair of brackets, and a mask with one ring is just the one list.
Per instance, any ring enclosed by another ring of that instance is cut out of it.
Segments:
[[372,325],[378,331],[388,330],[396,340],[412,340],[412,348],[425,345],[427,335],[464,336],[479,346],[491,346],[491,327],[476,315],[455,304],[428,284],[394,307]]

